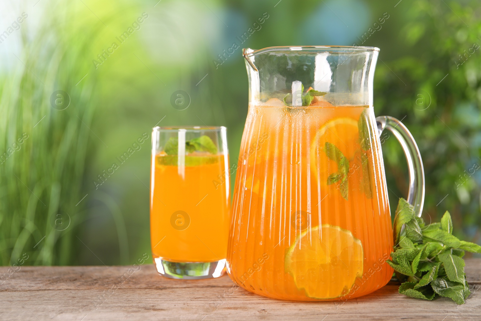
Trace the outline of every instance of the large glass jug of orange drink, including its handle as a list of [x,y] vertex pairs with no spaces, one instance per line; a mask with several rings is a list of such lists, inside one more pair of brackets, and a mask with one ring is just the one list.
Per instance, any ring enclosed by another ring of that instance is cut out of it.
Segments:
[[375,118],[374,47],[244,49],[249,112],[232,204],[227,271],[259,295],[344,300],[392,277],[393,247],[380,133],[409,167],[420,216],[424,172],[405,126]]

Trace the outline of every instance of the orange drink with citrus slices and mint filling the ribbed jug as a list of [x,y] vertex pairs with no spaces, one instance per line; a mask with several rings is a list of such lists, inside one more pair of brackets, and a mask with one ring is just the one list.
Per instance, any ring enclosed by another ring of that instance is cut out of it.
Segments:
[[372,107],[250,105],[228,245],[234,282],[287,300],[354,298],[390,280],[392,245]]

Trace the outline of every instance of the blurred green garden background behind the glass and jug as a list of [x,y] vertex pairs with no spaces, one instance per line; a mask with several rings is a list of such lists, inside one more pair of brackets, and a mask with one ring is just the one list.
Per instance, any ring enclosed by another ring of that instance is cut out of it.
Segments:
[[[241,49],[218,55],[263,16],[241,46],[381,49],[375,113],[402,119],[418,142],[424,218],[449,210],[455,234],[481,242],[479,1],[12,0],[0,15],[0,265],[24,253],[29,265],[150,255],[151,129],[227,126],[237,162],[247,74]],[[184,110],[171,104],[177,90]],[[405,158],[389,134],[381,141],[394,211]]]

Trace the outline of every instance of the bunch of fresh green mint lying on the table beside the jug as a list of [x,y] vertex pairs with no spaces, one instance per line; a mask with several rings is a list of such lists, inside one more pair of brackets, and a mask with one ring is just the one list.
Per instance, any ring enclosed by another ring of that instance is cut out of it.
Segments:
[[389,265],[404,282],[399,293],[432,300],[436,295],[463,304],[470,294],[464,273],[464,252],[481,253],[481,246],[460,241],[453,235],[451,215],[446,211],[441,223],[424,224],[414,208],[399,199],[394,218],[394,252]]

